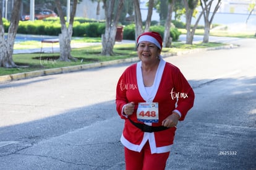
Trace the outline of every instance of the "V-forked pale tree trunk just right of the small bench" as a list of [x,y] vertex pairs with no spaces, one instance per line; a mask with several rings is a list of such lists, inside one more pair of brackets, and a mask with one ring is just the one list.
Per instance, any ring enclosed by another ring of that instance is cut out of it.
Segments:
[[61,9],[61,2],[60,0],[54,0],[59,18],[61,20],[61,33],[59,34],[59,61],[77,61],[74,57],[71,56],[71,39],[72,39],[72,30],[73,30],[73,23],[75,17],[75,11],[77,10],[77,0],[74,0],[72,5],[72,11],[70,14],[69,26],[66,26],[66,20],[64,18],[64,12]]

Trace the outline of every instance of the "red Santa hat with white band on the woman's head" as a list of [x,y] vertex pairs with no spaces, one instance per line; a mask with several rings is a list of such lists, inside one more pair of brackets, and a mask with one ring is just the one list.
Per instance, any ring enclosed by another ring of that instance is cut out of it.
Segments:
[[139,45],[139,43],[141,41],[149,41],[150,43],[153,43],[156,46],[158,46],[158,48],[160,48],[160,49],[162,49],[162,46],[163,46],[163,39],[162,39],[160,33],[157,33],[157,32],[142,33],[142,35],[140,35],[137,38],[137,44]]

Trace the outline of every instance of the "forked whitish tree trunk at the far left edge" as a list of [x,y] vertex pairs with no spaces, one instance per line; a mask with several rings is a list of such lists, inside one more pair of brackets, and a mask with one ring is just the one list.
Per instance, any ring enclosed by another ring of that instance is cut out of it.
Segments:
[[8,30],[7,38],[4,36],[4,25],[2,22],[2,8],[0,9],[0,67],[17,67],[12,59],[14,51],[14,41],[19,27],[19,14],[21,0],[16,0],[12,9],[11,23]]

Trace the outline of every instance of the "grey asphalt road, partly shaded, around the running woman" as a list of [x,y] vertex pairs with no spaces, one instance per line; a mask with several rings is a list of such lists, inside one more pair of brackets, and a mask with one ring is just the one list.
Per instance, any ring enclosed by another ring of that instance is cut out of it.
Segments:
[[[196,95],[166,169],[256,169],[256,40],[229,42],[165,58]],[[0,169],[124,169],[114,98],[127,66],[0,84]]]

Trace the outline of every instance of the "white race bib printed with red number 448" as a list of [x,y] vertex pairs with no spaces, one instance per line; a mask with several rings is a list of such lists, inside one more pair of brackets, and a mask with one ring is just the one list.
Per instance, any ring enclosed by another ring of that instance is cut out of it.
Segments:
[[139,103],[137,109],[137,119],[140,122],[158,122],[158,103]]

